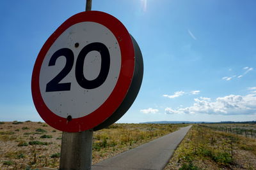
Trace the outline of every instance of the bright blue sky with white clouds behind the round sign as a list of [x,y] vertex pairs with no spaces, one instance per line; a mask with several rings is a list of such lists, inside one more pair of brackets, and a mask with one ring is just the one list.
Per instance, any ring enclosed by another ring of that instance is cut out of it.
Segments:
[[[256,120],[254,0],[93,0],[140,45],[141,90],[118,122]],[[42,121],[31,97],[38,52],[85,1],[0,2],[0,121]]]

